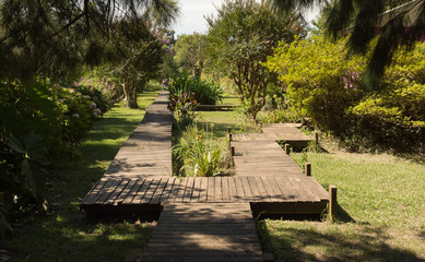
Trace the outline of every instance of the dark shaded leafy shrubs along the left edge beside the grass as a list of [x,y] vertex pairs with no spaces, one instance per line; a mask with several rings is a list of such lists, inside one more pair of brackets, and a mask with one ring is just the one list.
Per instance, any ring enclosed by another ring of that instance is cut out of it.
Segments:
[[0,92],[0,205],[8,219],[19,219],[45,207],[46,168],[75,160],[78,145],[103,114],[94,100],[106,110],[107,99],[94,87],[48,81],[1,82]]

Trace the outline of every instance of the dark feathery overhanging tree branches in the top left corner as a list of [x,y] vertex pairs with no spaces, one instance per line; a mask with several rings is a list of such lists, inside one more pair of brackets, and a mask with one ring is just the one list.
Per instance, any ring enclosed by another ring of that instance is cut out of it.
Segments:
[[97,63],[116,21],[167,25],[178,14],[173,0],[3,0],[0,78],[63,75],[81,61]]

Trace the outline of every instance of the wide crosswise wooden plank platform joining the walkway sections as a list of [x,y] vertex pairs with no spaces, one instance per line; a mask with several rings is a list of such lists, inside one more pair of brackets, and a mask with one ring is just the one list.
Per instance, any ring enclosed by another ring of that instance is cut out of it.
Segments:
[[169,203],[327,202],[328,192],[307,176],[139,178],[105,177],[81,202],[83,210]]

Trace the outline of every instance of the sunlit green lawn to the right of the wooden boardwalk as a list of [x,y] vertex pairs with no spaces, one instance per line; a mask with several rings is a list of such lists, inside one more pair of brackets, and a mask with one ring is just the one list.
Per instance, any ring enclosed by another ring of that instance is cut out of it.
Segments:
[[[292,154],[300,164],[302,154]],[[390,155],[308,154],[312,176],[338,186],[338,223],[260,222],[280,261],[425,260],[425,167]]]

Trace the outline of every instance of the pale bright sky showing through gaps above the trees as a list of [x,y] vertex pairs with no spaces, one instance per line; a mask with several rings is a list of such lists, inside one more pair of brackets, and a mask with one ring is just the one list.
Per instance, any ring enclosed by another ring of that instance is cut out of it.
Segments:
[[[192,34],[193,32],[206,33],[206,21],[204,15],[216,15],[215,7],[221,7],[224,0],[178,0],[181,9],[181,17],[174,26],[177,35]],[[318,10],[312,10],[306,14],[306,20],[310,22],[317,15]]]

